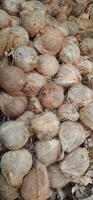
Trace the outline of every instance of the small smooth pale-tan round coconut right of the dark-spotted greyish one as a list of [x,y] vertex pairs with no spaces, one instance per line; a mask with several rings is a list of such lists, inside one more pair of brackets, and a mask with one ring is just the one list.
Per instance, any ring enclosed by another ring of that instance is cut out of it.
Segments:
[[58,72],[59,68],[59,63],[53,55],[45,54],[39,56],[39,65],[36,69],[39,73],[51,77]]

